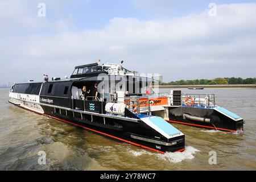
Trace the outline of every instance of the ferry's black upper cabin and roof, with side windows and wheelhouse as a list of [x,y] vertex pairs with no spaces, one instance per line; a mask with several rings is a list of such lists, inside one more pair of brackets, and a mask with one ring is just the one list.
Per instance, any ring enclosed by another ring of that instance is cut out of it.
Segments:
[[[104,76],[104,85],[109,85],[110,82],[120,84],[122,81],[124,82],[123,84],[126,85],[126,88],[134,88],[131,91],[129,90],[131,94],[139,93],[139,90],[135,90],[135,84],[141,88],[143,85],[142,82],[146,82],[146,85],[148,85],[149,82],[154,82],[151,78],[135,75],[118,75],[117,77],[109,75],[110,66],[110,64],[99,65],[98,63],[80,65],[75,67],[75,71],[70,78],[65,78],[64,80],[24,82],[13,85],[11,89],[12,92],[20,94],[39,95],[40,93],[40,96],[71,98],[72,86],[81,89],[86,85],[88,89],[93,89],[94,84],[100,84],[100,82],[102,82],[102,78],[98,77],[101,73],[105,73],[106,76],[108,76],[106,79]],[[122,69],[124,73],[132,73],[122,67],[118,69]],[[106,89],[109,90],[110,88]]]

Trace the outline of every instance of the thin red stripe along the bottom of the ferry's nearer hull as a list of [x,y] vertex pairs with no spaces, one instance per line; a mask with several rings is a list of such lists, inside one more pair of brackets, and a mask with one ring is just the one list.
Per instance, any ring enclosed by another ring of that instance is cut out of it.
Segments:
[[[146,148],[146,149],[148,149],[148,150],[152,150],[152,151],[155,151],[155,152],[159,152],[159,153],[161,153],[161,154],[165,154],[165,153],[166,153],[166,152],[163,152],[163,151],[155,150],[154,148],[150,148],[150,147],[143,146],[143,145],[138,144],[138,143],[130,142],[129,140],[125,140],[125,139],[122,139],[122,138],[115,137],[115,136],[113,136],[113,135],[109,135],[109,134],[103,133],[103,132],[101,132],[101,131],[89,129],[88,127],[85,127],[85,126],[82,126],[82,125],[77,125],[76,123],[72,123],[72,122],[69,122],[69,121],[65,121],[64,119],[60,119],[60,118],[53,117],[53,116],[51,116],[51,115],[43,114],[43,113],[40,113],[40,112],[38,112],[38,111],[31,110],[31,109],[28,109],[28,108],[23,107],[23,106],[20,106],[20,105],[19,105],[18,107],[22,107],[23,109],[30,110],[30,111],[32,111],[32,112],[34,112],[34,113],[37,113],[37,114],[46,115],[46,116],[49,117],[49,118],[57,119],[57,120],[59,120],[59,121],[62,121],[62,122],[65,122],[65,123],[69,123],[69,124],[71,124],[71,125],[79,126],[79,127],[82,127],[82,128],[84,128],[84,129],[86,129],[86,130],[90,130],[90,131],[93,131],[93,132],[95,132],[95,133],[108,136],[108,137],[110,137],[110,138],[114,138],[114,139],[117,139],[117,140],[121,140],[122,142],[130,143],[130,144],[133,144],[133,145],[138,146],[138,147]],[[184,151],[184,150],[185,150],[185,149],[181,149],[181,150],[178,150],[178,151],[175,151],[175,152],[182,152],[182,151]]]

